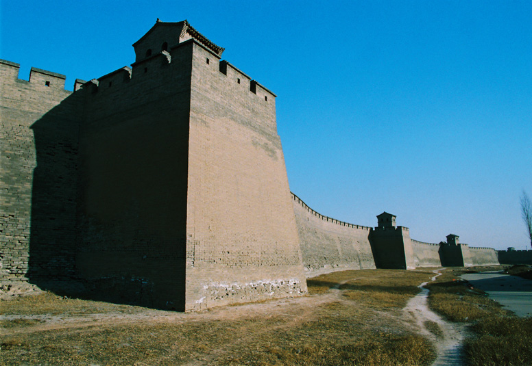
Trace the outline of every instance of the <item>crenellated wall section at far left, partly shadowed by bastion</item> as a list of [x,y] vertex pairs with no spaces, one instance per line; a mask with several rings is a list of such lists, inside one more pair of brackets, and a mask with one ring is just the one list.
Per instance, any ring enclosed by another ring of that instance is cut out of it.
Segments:
[[[0,280],[74,272],[80,101],[64,75],[0,60]],[[30,226],[31,224],[31,226]]]

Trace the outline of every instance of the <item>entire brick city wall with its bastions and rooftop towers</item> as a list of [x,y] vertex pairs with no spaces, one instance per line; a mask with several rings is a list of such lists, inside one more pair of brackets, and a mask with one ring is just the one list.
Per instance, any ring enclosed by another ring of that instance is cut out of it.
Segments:
[[0,60],[0,285],[191,311],[301,296],[335,270],[497,262],[310,209],[289,189],[275,94],[186,21],[133,46],[131,67],[75,92]]

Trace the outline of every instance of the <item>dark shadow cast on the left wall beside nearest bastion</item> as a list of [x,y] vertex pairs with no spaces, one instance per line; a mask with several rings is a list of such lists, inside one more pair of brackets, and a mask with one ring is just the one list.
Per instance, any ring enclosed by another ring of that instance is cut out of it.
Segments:
[[51,290],[75,277],[79,120],[71,112],[77,105],[79,98],[72,94],[31,127],[37,165],[32,179],[27,276],[30,282]]

